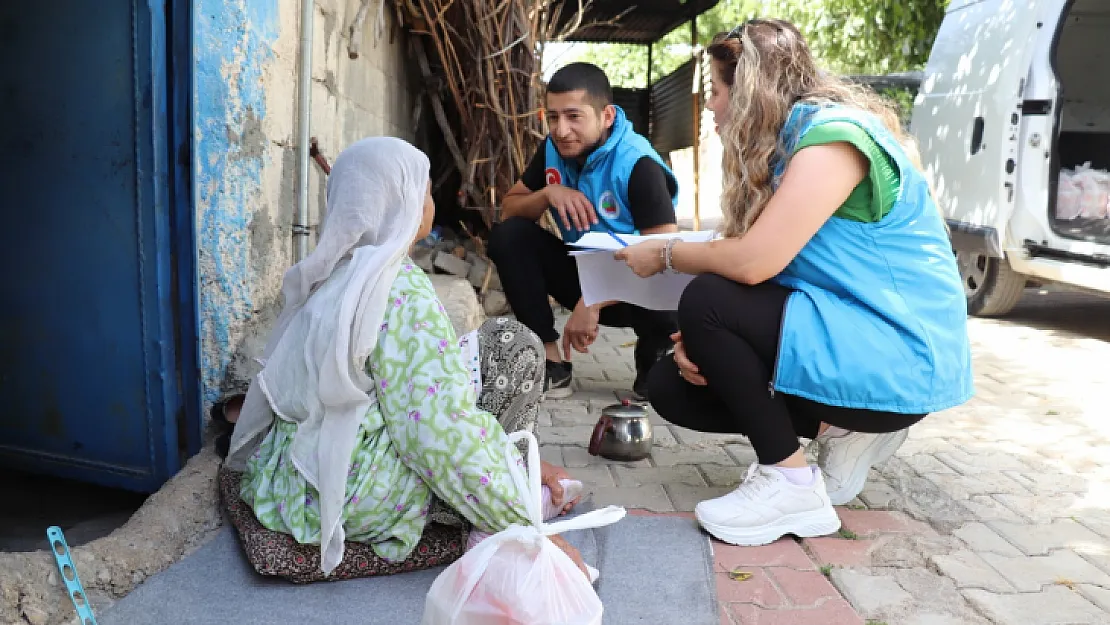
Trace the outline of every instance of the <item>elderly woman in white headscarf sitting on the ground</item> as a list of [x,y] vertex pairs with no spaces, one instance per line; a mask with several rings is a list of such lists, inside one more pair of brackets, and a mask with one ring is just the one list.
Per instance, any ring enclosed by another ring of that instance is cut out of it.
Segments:
[[[366,139],[340,154],[320,242],[285,274],[263,370],[234,420],[226,465],[243,472],[243,502],[266,528],[319,544],[325,574],[344,541],[404,561],[430,517],[462,515],[472,544],[527,523],[506,430],[535,426],[543,346],[507,319],[456,341],[406,256],[434,212],[428,160],[408,143]],[[565,512],[564,491],[581,483],[543,473],[546,515]]]

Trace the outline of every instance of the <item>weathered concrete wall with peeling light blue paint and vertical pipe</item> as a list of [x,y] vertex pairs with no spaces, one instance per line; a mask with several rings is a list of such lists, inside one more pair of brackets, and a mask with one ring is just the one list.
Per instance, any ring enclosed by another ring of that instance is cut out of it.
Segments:
[[[310,0],[311,1],[311,0]],[[367,135],[412,139],[404,36],[372,0],[361,57],[351,21],[361,0],[315,0],[312,135],[334,160]],[[292,261],[296,210],[296,103],[301,0],[194,0],[194,184],[205,404],[244,390],[256,370]],[[310,173],[310,223],[326,178]],[[310,236],[314,243],[315,236]],[[310,243],[311,244],[311,243]]]

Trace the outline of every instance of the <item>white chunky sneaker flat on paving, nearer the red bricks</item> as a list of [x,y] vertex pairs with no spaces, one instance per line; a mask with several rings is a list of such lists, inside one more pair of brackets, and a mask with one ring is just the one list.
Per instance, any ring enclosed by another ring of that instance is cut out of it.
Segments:
[[716,538],[741,546],[766,545],[786,534],[824,536],[840,528],[820,472],[814,471],[813,484],[798,486],[758,463],[748,467],[735,491],[697,504],[694,516]]

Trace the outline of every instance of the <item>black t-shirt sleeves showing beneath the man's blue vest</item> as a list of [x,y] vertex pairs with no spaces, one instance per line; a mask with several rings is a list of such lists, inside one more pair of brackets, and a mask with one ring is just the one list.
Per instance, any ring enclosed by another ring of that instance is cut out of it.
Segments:
[[[521,174],[521,182],[529,191],[539,191],[547,185],[545,173],[547,164],[547,141],[544,140]],[[646,230],[657,225],[669,225],[675,221],[675,205],[670,198],[675,193],[675,184],[663,171],[659,163],[650,157],[642,157],[632,168],[628,177],[628,212],[636,230]]]

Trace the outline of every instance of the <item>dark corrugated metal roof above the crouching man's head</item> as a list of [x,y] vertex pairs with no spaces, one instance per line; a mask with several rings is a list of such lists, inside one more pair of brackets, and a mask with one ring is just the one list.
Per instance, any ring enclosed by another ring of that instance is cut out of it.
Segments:
[[[719,0],[593,0],[568,41],[594,43],[653,43],[714,8]],[[578,0],[563,0],[559,27],[569,24]],[[614,23],[606,23],[613,21]]]

